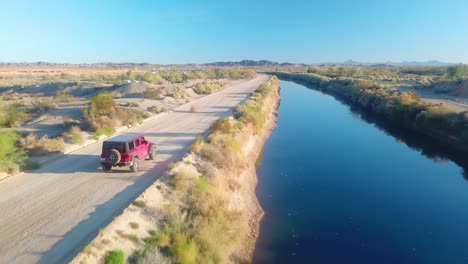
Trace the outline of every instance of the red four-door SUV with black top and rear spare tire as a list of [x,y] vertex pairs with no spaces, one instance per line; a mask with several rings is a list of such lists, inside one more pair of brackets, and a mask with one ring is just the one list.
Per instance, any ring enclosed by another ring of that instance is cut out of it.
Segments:
[[126,134],[102,143],[101,165],[104,171],[113,166],[130,166],[133,172],[140,168],[140,160],[156,158],[156,146],[141,135]]

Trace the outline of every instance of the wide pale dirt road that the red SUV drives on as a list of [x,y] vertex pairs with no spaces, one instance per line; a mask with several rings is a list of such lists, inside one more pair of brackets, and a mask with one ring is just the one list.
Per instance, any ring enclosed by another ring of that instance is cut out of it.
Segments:
[[141,172],[103,173],[101,144],[94,144],[0,182],[0,263],[66,263],[141,194],[167,164],[180,159],[196,136],[248,97],[268,77],[228,87],[125,133],[139,132],[158,145],[155,162]]

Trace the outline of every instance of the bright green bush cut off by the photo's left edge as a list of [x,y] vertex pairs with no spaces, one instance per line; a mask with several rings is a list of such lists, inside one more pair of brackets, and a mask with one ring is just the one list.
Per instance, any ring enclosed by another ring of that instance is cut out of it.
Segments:
[[0,172],[16,173],[26,165],[26,152],[19,148],[19,135],[0,132]]

